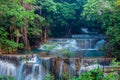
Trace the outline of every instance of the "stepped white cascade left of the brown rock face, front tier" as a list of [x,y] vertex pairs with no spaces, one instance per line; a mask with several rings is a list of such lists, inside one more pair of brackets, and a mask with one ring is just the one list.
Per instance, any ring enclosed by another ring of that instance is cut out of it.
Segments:
[[28,61],[32,64],[32,71],[25,80],[43,80],[45,76],[49,74],[50,71],[50,58],[39,58],[37,55],[34,55],[33,61]]

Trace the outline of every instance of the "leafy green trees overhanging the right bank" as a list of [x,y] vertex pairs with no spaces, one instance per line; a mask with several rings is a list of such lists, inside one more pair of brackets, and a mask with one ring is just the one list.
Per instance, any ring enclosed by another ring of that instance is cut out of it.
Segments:
[[107,55],[120,59],[120,0],[87,0],[83,7],[81,15],[87,21],[100,23],[106,34]]

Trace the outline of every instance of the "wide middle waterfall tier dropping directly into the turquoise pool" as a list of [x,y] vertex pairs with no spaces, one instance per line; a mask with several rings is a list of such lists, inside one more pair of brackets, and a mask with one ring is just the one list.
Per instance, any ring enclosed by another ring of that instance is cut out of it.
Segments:
[[[104,44],[104,39],[50,39],[48,43],[53,43],[54,50],[69,49],[69,50],[97,50]],[[99,43],[99,44],[98,44]],[[45,49],[45,46],[40,46],[39,49]]]

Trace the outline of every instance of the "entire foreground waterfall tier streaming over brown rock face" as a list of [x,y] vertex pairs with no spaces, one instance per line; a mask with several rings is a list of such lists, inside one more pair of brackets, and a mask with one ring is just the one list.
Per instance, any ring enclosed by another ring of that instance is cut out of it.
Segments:
[[[15,80],[44,80],[51,74],[55,75],[55,79],[62,80],[62,74],[68,73],[69,76],[77,76],[86,70],[97,67],[102,68],[110,64],[111,58],[50,58],[39,57],[38,55],[29,56],[2,56],[7,60],[0,58],[0,75],[13,76]],[[14,61],[17,58],[19,61]],[[34,59],[33,59],[34,58]],[[94,63],[96,64],[94,65]],[[6,65],[6,66],[5,66]]]

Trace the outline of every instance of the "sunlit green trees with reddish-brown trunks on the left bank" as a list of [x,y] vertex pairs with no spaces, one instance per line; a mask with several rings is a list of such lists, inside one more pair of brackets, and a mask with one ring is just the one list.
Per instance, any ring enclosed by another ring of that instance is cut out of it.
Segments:
[[32,42],[29,39],[40,36],[40,24],[36,24],[44,18],[34,13],[32,4],[35,4],[34,0],[0,1],[0,50],[3,52],[17,51],[18,48],[29,50],[29,42]]

